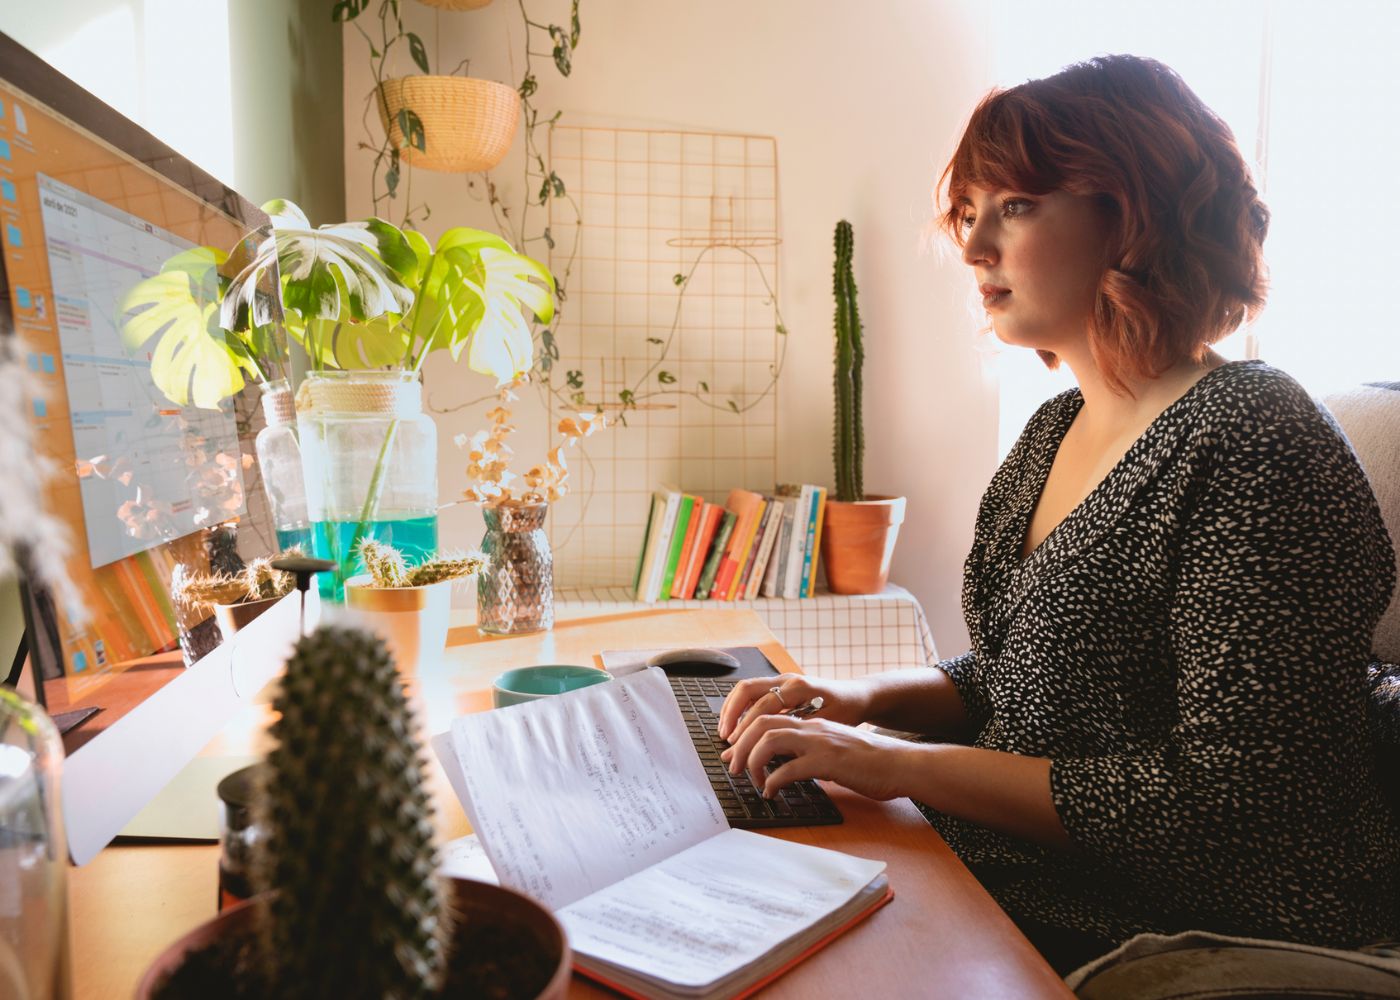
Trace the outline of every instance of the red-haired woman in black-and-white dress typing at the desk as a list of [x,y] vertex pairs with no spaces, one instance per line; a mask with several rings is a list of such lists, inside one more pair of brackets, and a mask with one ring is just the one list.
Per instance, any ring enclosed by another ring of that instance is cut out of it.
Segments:
[[1331,419],[1210,349],[1264,298],[1268,213],[1229,129],[1161,63],[1095,59],[988,95],[944,182],[997,336],[1078,389],[983,497],[972,651],[741,682],[731,769],[785,754],[770,796],[913,797],[1061,972],[1140,931],[1393,937],[1365,665],[1394,556]]

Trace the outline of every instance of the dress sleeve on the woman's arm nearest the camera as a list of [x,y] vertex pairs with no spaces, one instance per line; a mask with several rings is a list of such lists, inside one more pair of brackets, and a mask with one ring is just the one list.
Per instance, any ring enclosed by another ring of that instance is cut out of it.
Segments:
[[1222,427],[1182,508],[1169,738],[1050,770],[1079,849],[1226,915],[1299,888],[1327,906],[1373,789],[1365,665],[1393,555],[1344,438],[1295,410]]

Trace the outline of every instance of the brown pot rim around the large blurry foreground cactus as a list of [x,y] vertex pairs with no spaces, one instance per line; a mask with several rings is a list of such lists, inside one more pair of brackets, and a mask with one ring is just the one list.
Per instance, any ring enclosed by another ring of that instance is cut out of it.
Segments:
[[[573,969],[573,954],[568,950],[568,938],[559,920],[528,896],[519,892],[504,889],[487,882],[473,882],[466,878],[451,878],[451,906],[458,915],[458,933],[469,933],[468,929],[490,923],[494,926],[514,924],[535,938],[540,957],[550,964],[553,973],[545,989],[535,994],[533,1000],[563,1000],[568,996],[568,979]],[[224,934],[252,936],[256,931],[258,920],[266,909],[262,896],[230,906],[213,920],[202,923],[199,927],[185,934],[157,955],[155,961],[141,976],[136,987],[136,1000],[150,1000],[155,986],[171,972],[178,969],[185,957],[190,952],[210,947]],[[518,997],[512,1000],[531,1000]]]

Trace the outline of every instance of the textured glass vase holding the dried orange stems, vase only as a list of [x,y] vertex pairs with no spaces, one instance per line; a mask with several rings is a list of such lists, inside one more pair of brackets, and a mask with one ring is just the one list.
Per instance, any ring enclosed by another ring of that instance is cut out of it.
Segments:
[[554,553],[545,534],[547,503],[482,508],[486,566],[476,574],[476,625],[512,636],[554,625]]

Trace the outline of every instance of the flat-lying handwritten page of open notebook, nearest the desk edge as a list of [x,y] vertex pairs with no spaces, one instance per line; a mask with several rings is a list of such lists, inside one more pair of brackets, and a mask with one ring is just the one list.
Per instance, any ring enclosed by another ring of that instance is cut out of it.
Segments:
[[727,831],[557,916],[578,954],[696,987],[757,962],[883,870],[883,861]]

